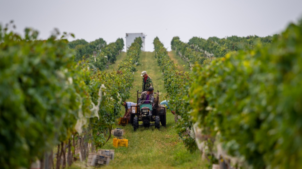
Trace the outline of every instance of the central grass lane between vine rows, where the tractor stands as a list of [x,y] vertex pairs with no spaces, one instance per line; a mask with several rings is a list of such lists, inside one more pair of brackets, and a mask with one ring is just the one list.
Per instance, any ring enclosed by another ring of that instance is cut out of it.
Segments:
[[[118,62],[116,62],[118,63]],[[154,52],[142,52],[140,56],[141,65],[137,66],[138,72],[134,73],[134,83],[131,89],[131,97],[127,101],[136,103],[137,93],[142,88],[142,77],[140,72],[147,71],[148,75],[153,79],[155,91],[159,90],[160,100],[165,97],[163,76],[157,60],[154,57]],[[124,110],[121,112],[124,114]],[[174,115],[167,111],[167,126],[160,130],[154,128],[144,129],[138,128],[136,132],[133,127],[117,126],[125,130],[123,138],[128,139],[128,148],[118,147],[114,148],[113,138],[102,147],[102,149],[114,149],[114,161],[104,168],[205,168],[204,161],[201,160],[201,153],[199,151],[191,154],[188,152],[179,140],[178,134],[175,130]],[[85,163],[73,164],[71,168],[82,168]],[[85,166],[86,167],[86,166]]]

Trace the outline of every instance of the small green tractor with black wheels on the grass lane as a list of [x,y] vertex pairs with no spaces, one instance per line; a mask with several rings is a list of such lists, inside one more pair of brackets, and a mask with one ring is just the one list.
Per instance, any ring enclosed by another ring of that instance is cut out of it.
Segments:
[[[139,94],[137,90],[137,105],[139,100]],[[145,101],[141,101],[139,106],[131,106],[130,124],[133,125],[133,130],[136,131],[139,126],[144,126],[145,129],[154,125],[155,128],[159,129],[160,124],[166,127],[166,109],[165,106],[159,103],[159,91],[154,92],[156,97],[154,98],[154,104],[148,103],[144,104]],[[142,121],[142,124],[139,124]],[[153,123],[154,122],[154,123]]]

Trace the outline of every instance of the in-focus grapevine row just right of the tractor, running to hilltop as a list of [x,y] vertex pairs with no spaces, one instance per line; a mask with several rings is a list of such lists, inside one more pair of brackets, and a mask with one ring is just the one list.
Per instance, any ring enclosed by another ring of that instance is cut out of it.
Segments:
[[164,76],[164,86],[168,93],[169,101],[172,105],[175,105],[176,114],[182,118],[178,120],[177,129],[178,134],[182,138],[183,142],[190,150],[196,149],[196,144],[193,137],[187,132],[191,130],[190,116],[187,114],[189,109],[189,103],[185,100],[179,99],[180,95],[187,95],[188,89],[184,88],[185,82],[190,78],[188,72],[179,71],[177,64],[168,55],[167,49],[159,41],[159,38],[155,38],[153,41],[154,50],[156,53],[158,65],[162,70]]

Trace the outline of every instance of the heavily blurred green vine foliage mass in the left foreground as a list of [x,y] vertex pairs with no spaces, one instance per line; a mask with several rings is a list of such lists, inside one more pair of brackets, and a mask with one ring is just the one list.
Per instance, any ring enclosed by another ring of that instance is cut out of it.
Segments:
[[[28,167],[74,131],[87,88],[66,40],[36,40],[31,29],[24,38],[6,28],[0,32],[0,163]],[[82,109],[88,105],[84,101]]]

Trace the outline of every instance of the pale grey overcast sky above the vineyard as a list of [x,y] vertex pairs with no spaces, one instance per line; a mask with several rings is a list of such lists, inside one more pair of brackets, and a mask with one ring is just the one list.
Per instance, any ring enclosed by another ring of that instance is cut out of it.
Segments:
[[[16,32],[38,30],[46,39],[54,28],[75,39],[107,43],[126,33],[146,34],[146,51],[157,36],[171,50],[174,36],[188,42],[197,36],[267,36],[302,19],[302,0],[0,0],[0,24],[14,20]],[[69,38],[69,41],[75,40]]]

